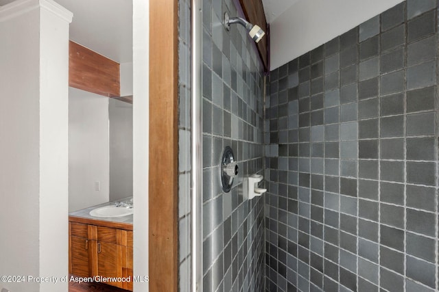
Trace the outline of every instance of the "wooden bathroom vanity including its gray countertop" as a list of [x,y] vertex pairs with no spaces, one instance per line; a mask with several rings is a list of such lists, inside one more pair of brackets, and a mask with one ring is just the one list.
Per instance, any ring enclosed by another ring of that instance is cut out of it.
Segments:
[[69,273],[132,291],[132,214],[90,215],[107,206],[115,202],[69,214]]

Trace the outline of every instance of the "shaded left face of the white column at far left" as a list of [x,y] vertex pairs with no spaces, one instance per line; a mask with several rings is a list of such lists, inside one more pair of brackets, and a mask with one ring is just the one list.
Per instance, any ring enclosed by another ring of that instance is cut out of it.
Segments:
[[[0,212],[1,237],[7,239],[0,241],[1,275],[39,270],[38,30],[38,10],[0,21],[0,96],[7,101],[0,107],[0,194],[8,206]],[[32,283],[1,286],[38,289]]]

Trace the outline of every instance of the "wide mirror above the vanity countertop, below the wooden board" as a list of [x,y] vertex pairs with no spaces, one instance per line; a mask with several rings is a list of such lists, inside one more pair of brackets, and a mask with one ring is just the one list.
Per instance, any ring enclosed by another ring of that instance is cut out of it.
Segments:
[[69,88],[69,212],[132,196],[132,104]]

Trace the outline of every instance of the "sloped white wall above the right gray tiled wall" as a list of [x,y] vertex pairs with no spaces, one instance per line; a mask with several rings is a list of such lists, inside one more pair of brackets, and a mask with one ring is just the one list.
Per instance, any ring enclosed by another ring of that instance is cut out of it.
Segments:
[[270,70],[403,0],[300,0],[270,23]]

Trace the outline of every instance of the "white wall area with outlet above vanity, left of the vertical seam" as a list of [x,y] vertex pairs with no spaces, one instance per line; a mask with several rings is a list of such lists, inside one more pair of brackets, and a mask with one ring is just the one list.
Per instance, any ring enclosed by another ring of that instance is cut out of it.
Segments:
[[69,88],[69,212],[108,202],[108,135],[108,98]]

